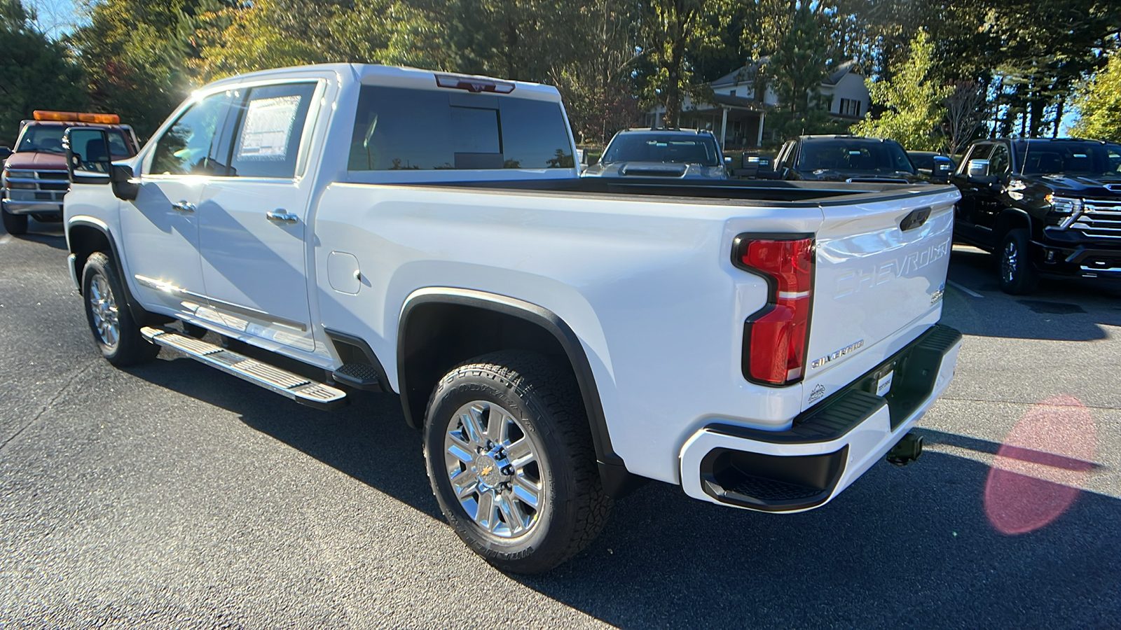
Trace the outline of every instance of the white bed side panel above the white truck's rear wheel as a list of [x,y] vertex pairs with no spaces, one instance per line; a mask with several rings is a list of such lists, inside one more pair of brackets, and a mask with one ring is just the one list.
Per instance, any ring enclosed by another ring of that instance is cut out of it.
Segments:
[[[743,321],[767,290],[731,251],[749,230],[816,232],[817,206],[332,184],[314,221],[323,325],[365,339],[395,389],[405,302],[453,287],[536,304],[572,327],[631,472],[676,482],[680,445],[705,418],[781,428],[799,410],[799,386],[742,377]],[[358,258],[356,294],[326,281],[331,252]]]

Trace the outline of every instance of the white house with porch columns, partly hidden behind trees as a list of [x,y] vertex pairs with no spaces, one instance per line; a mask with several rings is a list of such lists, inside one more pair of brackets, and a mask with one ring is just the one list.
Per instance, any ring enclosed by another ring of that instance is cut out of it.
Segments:
[[[694,103],[688,96],[682,103],[677,127],[710,129],[723,138],[724,148],[752,148],[763,142],[767,112],[779,106],[778,94],[769,85],[760,94],[756,89],[756,74],[760,62],[745,65],[713,81],[712,103]],[[845,62],[822,82],[824,102],[830,113],[839,120],[860,120],[868,112],[871,99],[864,76],[858,72],[856,62]],[[649,110],[646,122],[660,124],[666,108]],[[779,138],[772,138],[778,140]]]

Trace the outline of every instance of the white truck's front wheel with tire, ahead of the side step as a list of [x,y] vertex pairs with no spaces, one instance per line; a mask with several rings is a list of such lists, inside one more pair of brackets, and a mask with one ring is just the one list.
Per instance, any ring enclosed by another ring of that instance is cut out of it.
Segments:
[[101,252],[90,254],[82,269],[85,317],[101,354],[119,368],[151,361],[159,353],[159,346],[140,334],[124,295],[112,259]]

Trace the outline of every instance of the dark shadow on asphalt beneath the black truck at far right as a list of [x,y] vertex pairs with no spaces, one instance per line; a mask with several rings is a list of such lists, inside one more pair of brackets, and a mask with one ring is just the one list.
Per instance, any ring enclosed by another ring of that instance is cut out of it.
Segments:
[[948,280],[942,323],[967,335],[1095,341],[1121,326],[1121,280],[1041,278],[1031,295],[1007,295],[992,257],[972,248],[954,249]]

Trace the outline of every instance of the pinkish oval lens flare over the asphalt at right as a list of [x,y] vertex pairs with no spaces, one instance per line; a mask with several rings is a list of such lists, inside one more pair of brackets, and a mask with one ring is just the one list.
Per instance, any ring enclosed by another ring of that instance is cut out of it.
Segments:
[[989,471],[984,509],[1001,534],[1027,534],[1054,521],[1078,498],[1094,469],[1097,429],[1073,396],[1032,407],[1004,439]]

